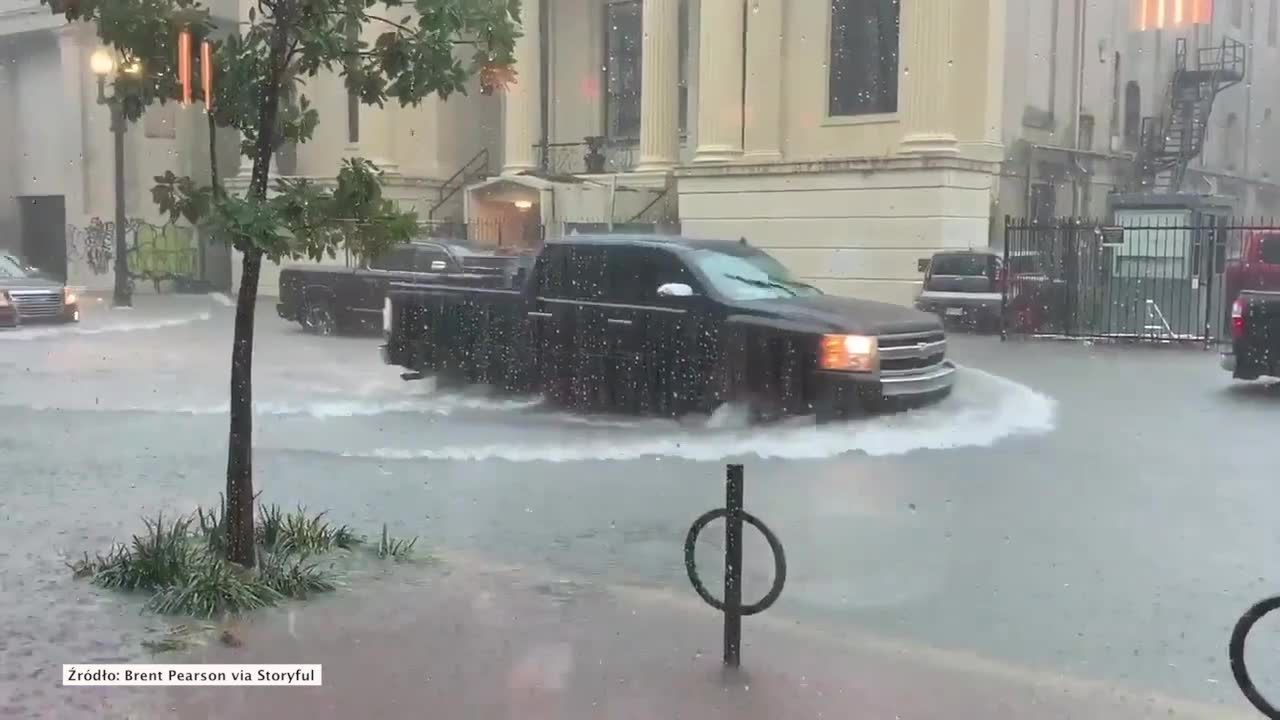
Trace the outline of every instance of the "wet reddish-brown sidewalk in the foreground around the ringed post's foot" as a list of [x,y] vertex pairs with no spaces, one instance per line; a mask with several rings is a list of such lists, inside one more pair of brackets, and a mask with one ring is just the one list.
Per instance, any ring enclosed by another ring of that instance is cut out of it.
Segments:
[[676,596],[522,571],[403,578],[261,616],[234,629],[241,647],[155,660],[319,662],[323,688],[154,688],[147,700],[166,717],[276,720],[1249,717],[851,642],[768,614],[745,620],[744,669],[724,673],[719,616]]

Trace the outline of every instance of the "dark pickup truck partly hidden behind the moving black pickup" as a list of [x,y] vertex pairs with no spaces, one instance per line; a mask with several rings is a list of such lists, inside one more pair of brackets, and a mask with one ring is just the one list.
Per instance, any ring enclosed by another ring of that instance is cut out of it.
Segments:
[[355,268],[296,265],[280,270],[276,314],[317,334],[376,328],[388,283],[448,277],[458,284],[504,283],[532,263],[521,254],[486,252],[451,241],[415,241]]

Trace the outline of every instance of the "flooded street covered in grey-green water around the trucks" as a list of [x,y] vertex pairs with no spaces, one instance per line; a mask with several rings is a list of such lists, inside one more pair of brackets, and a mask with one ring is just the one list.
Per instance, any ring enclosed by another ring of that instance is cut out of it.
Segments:
[[[55,664],[133,659],[159,625],[73,583],[64,556],[223,484],[232,310],[186,297],[86,315],[0,333],[0,689],[18,706]],[[744,461],[748,509],[790,561],[771,615],[1231,708],[1230,625],[1280,589],[1280,388],[1233,384],[1212,354],[955,337],[961,384],[940,406],[749,428],[733,409],[579,418],[436,392],[375,346],[264,309],[264,500],[444,553],[682,591],[684,533],[723,501],[723,462]],[[746,552],[751,598],[769,565],[763,542]],[[1257,662],[1280,689],[1280,655]]]

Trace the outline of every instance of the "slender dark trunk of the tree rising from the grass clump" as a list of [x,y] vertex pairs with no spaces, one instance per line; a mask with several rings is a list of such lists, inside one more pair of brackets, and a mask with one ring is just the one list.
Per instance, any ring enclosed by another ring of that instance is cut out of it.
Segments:
[[[271,145],[275,115],[280,106],[280,76],[289,53],[289,22],[284,8],[273,19],[270,77],[262,88],[257,114],[257,145],[253,147],[253,174],[248,199],[265,202],[271,173]],[[239,293],[236,299],[236,332],[232,340],[230,432],[227,441],[227,560],[252,568],[257,561],[253,544],[253,310],[257,305],[257,278],[262,251],[252,243],[239,243],[244,254]]]

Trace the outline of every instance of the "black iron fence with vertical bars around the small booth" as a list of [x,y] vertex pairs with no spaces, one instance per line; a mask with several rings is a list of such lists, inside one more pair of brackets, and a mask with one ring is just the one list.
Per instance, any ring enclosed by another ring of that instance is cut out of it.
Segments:
[[1006,218],[1002,329],[1012,334],[1144,341],[1225,338],[1247,283],[1242,247],[1274,223],[1207,214]]

